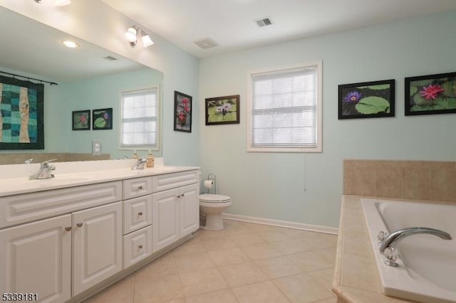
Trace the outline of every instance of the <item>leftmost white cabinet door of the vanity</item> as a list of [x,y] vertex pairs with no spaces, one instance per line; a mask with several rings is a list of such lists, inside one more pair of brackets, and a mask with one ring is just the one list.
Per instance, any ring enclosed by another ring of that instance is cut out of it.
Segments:
[[70,299],[71,215],[0,230],[0,247],[1,292],[36,293],[38,302]]

